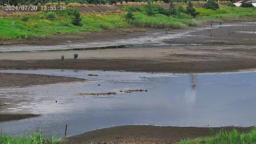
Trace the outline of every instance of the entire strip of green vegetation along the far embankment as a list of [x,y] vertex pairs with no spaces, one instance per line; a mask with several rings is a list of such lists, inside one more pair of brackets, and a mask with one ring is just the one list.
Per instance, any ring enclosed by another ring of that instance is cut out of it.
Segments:
[[[71,8],[70,8],[71,9]],[[210,9],[196,8],[200,14],[196,19],[234,19],[241,17],[256,18],[256,8],[221,6],[213,11]],[[53,13],[49,16],[49,13]],[[103,14],[81,14],[82,26],[72,24],[72,15],[67,11],[40,11],[37,13],[15,13],[6,18],[0,18],[0,39],[44,37],[53,34],[80,33],[85,31],[101,31],[103,29],[127,28],[131,25],[151,28],[185,29],[188,26],[201,26],[191,16],[180,13],[179,16],[166,16],[155,14],[148,16],[145,10],[133,12],[133,18],[129,22],[123,13],[116,12]],[[13,30],[12,21],[15,21]]]

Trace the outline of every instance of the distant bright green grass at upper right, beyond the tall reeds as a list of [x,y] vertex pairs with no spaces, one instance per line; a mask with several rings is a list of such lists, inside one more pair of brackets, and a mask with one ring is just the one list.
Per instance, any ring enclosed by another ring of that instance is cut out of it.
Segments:
[[256,17],[256,8],[222,6],[213,11],[211,9],[196,8],[198,19],[236,19],[241,17]]

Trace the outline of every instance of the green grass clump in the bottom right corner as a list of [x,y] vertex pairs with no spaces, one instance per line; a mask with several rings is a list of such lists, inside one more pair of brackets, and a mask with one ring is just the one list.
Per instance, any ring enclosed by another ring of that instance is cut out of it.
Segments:
[[236,129],[231,131],[220,130],[220,132],[207,138],[186,139],[181,140],[178,144],[255,144],[256,143],[256,127],[248,133],[239,133]]

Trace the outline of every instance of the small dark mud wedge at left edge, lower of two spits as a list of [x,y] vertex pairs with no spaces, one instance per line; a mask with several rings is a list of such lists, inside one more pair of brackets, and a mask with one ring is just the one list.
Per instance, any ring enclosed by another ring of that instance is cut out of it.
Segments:
[[7,121],[16,121],[21,119],[39,117],[37,114],[0,114],[0,123]]

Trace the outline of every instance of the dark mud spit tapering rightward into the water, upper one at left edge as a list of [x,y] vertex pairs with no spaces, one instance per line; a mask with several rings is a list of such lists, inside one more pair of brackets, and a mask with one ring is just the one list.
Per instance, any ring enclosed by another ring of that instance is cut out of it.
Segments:
[[66,82],[82,82],[85,79],[21,73],[0,73],[0,87],[30,86]]

